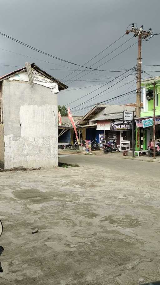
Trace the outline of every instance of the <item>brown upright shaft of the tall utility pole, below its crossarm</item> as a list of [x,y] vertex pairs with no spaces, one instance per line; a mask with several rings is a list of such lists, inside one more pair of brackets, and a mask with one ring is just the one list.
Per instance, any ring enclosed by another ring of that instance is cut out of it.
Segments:
[[141,50],[142,50],[142,34],[138,36],[136,117],[140,117],[141,113],[141,68],[142,68]]

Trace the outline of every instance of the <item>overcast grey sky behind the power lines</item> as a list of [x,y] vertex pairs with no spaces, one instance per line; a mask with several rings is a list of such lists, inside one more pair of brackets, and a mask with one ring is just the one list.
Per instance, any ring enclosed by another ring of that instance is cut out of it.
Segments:
[[[152,27],[154,33],[160,33],[159,0],[0,0],[0,4],[0,31],[2,33],[19,39],[37,49],[80,65],[83,65],[94,55],[98,54],[109,44],[122,36],[125,33],[127,26],[132,22],[136,22],[138,27],[143,24],[144,30],[148,30]],[[89,62],[87,66],[92,65],[132,36],[133,34],[125,35],[113,46]],[[121,48],[105,57],[105,59],[93,65],[93,68],[97,68],[100,64],[111,59],[136,41],[137,38],[131,39]],[[143,41],[142,44],[143,65],[160,65],[160,35],[154,36],[149,42]],[[20,53],[25,56],[7,52],[2,49]],[[110,60],[100,69],[132,68],[136,64],[137,49],[138,45],[135,44],[115,59]],[[33,57],[33,59],[27,56]],[[40,60],[48,61],[49,63]],[[98,70],[86,74],[90,71],[87,70],[86,72],[75,76],[80,72],[78,70],[63,79],[72,72],[72,69],[74,71],[78,67],[42,55],[0,35],[0,64],[24,66],[26,61],[30,61],[31,63],[35,62],[40,68],[46,69],[49,74],[62,80],[62,82],[64,82],[64,80],[76,80],[65,81],[70,87],[69,89],[85,87],[78,90],[68,91],[67,89],[66,91],[60,92],[58,95],[58,103],[60,105],[68,105],[71,101],[92,92],[112,78],[121,74],[119,72],[113,73]],[[17,69],[15,67],[2,65],[0,66],[0,75]],[[80,68],[80,70],[84,70],[84,68]],[[160,67],[143,67],[143,70],[160,70]],[[128,74],[129,73],[126,73],[126,75]],[[151,72],[151,74],[153,74],[153,76],[158,76],[160,75],[160,72]],[[78,77],[82,75],[84,76],[78,79]],[[71,79],[73,76],[75,77]],[[100,98],[97,96],[94,101],[89,101],[86,105],[82,105],[82,107],[129,92],[131,91],[131,88],[134,90],[135,85],[133,82],[124,85],[125,83],[134,80],[134,75],[131,76],[132,77],[124,79],[121,83],[116,84],[108,91],[102,93],[102,95],[104,95]],[[149,75],[146,74],[143,74],[143,76],[149,77]],[[112,85],[116,83],[116,81],[118,80],[114,80]],[[95,86],[88,87],[92,85]],[[70,107],[73,108],[74,106],[81,104],[83,101],[90,99],[110,86],[111,84],[107,84],[83,99],[70,104]],[[118,89],[114,90],[116,88]],[[108,93],[109,91],[112,92]],[[136,100],[135,97],[135,94],[131,94],[130,96],[128,95],[119,98],[116,101],[112,101],[110,104],[134,102]],[[74,114],[81,115],[88,111],[86,109],[80,112],[78,111],[78,108],[80,107],[75,109],[77,111],[73,111]]]

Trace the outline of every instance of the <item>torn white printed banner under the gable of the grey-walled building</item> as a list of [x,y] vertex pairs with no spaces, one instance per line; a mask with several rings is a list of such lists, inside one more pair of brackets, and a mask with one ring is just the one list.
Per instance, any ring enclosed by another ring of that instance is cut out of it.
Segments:
[[[58,84],[56,82],[53,82],[49,78],[45,77],[42,73],[34,70],[32,68],[32,78],[33,82],[43,85],[45,87],[51,88],[52,93],[58,93]],[[9,80],[20,80],[20,81],[27,81],[29,82],[27,71],[20,72],[16,75],[13,75],[9,78]]]

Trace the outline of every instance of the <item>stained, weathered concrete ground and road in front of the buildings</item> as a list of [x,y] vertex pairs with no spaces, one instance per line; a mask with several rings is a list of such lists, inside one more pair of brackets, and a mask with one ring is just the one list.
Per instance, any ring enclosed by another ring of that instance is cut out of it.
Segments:
[[158,163],[85,159],[88,166],[0,173],[0,284],[160,279]]

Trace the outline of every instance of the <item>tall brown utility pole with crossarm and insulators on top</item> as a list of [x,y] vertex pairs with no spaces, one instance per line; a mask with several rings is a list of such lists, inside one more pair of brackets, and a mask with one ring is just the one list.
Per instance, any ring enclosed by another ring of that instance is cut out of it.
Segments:
[[136,100],[136,117],[140,117],[141,112],[141,66],[142,66],[142,39],[146,39],[148,36],[152,36],[152,29],[149,28],[148,32],[143,31],[143,26],[135,28],[134,23],[132,29],[127,30],[126,34],[130,32],[134,33],[135,37],[138,37],[138,58],[137,58],[137,100]]

